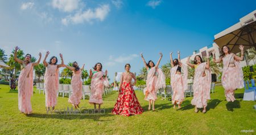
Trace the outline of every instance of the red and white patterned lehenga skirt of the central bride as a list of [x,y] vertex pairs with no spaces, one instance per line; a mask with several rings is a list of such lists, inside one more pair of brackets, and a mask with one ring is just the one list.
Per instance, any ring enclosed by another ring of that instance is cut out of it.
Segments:
[[130,116],[142,114],[142,112],[143,109],[139,104],[133,86],[131,86],[130,82],[123,82],[122,91],[118,95],[117,103],[115,103],[112,113]]

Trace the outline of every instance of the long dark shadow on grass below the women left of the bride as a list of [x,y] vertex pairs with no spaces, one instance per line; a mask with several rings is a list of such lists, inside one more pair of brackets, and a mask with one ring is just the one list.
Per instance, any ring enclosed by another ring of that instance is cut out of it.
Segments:
[[[104,108],[102,108],[104,109]],[[105,108],[105,114],[103,111],[101,111],[101,114],[95,111],[95,114],[92,113],[93,109],[81,109],[82,114],[68,114],[66,111],[58,111],[58,112],[48,112],[48,114],[38,114],[33,113],[30,115],[27,115],[28,117],[36,117],[36,118],[42,118],[42,119],[66,119],[66,120],[73,120],[73,119],[92,119],[94,121],[110,121],[110,120],[100,120],[101,117],[111,117],[115,116],[114,114],[110,114],[112,108]],[[88,114],[85,113],[85,111],[90,111]]]

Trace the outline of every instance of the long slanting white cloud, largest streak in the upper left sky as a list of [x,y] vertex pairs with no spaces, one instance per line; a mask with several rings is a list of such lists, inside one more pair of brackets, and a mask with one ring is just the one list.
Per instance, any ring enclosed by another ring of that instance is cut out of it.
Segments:
[[101,5],[100,7],[95,8],[94,10],[88,9],[86,11],[79,11],[75,15],[67,16],[66,18],[61,19],[61,23],[68,25],[69,23],[80,24],[80,23],[93,23],[93,20],[103,21],[106,16],[109,14],[110,8],[109,5]]

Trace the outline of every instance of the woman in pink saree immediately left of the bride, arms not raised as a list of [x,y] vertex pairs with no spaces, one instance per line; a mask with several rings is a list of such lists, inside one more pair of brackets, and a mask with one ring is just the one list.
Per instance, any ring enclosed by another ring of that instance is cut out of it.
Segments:
[[105,73],[102,72],[102,64],[96,63],[95,66],[90,69],[90,99],[89,103],[94,104],[94,109],[96,109],[96,104],[98,104],[98,110],[100,111],[101,104],[103,103],[102,94],[104,93],[104,86],[109,85],[109,80],[107,78],[108,71],[106,70]]

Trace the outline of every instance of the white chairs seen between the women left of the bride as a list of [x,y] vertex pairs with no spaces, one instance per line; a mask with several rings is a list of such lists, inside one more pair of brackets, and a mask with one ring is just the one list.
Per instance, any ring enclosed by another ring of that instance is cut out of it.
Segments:
[[[39,91],[39,94],[43,92],[45,93],[44,89],[44,83],[43,82],[37,82],[36,83],[36,89]],[[112,89],[105,88],[104,89],[104,95],[112,93]],[[82,85],[82,98],[85,99],[86,97],[90,97],[90,86],[89,85]],[[72,86],[70,84],[59,84],[59,90],[57,92],[57,95],[62,95],[70,97],[72,95]]]

